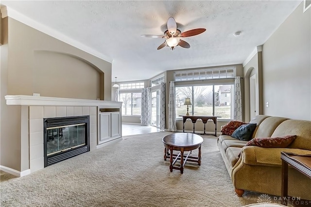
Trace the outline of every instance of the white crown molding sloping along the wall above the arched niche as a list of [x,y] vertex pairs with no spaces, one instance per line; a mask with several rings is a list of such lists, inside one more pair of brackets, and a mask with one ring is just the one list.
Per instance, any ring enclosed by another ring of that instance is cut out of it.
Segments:
[[2,18],[4,17],[11,17],[11,18],[14,18],[16,19],[17,21],[20,21],[21,23],[23,24],[26,24],[32,28],[35,28],[36,30],[44,33],[44,34],[47,34],[47,35],[50,35],[60,41],[63,41],[75,48],[78,48],[84,52],[87,52],[89,54],[92,54],[100,59],[103,59],[104,61],[107,61],[109,63],[112,63],[112,58],[111,57],[108,57],[107,55],[101,53],[101,52],[98,52],[84,44],[82,44],[81,42],[78,42],[72,38],[70,38],[69,36],[67,35],[64,35],[56,30],[53,30],[52,28],[44,25],[44,24],[41,24],[37,21],[35,21],[34,19],[32,18],[29,18],[29,17],[26,17],[25,15],[17,12],[16,10],[10,8],[10,7],[7,7],[7,6],[3,6],[1,7],[1,13],[2,13]]

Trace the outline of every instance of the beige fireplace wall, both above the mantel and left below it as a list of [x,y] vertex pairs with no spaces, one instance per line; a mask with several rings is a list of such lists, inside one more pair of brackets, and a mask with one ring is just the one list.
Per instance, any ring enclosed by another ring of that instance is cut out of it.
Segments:
[[40,93],[110,101],[111,63],[10,17],[2,20],[0,165],[24,171],[29,169],[29,143],[21,127],[27,123],[21,123],[21,107],[6,105],[4,96]]

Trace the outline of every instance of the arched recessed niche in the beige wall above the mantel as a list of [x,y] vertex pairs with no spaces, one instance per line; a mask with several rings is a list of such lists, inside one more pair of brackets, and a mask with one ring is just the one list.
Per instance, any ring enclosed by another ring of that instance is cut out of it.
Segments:
[[69,53],[34,51],[33,91],[41,96],[101,98],[104,72],[89,61]]

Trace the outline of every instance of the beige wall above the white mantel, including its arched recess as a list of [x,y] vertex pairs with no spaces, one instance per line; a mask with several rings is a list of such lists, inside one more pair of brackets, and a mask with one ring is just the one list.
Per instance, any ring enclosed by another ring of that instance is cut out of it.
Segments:
[[[53,97],[111,100],[111,63],[10,17],[8,38],[8,94],[33,95],[40,90]],[[69,79],[57,79],[56,76],[61,74],[70,74]],[[104,76],[104,87],[99,83],[101,75]],[[52,84],[47,82],[55,79],[58,84],[68,81],[69,84],[65,85],[67,92],[59,91],[57,86],[48,89]],[[73,90],[74,87],[78,88]]]

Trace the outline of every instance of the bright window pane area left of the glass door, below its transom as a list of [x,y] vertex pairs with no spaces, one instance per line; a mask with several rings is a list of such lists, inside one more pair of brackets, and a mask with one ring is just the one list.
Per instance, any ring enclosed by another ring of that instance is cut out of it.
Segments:
[[120,93],[122,115],[140,116],[141,93]]

